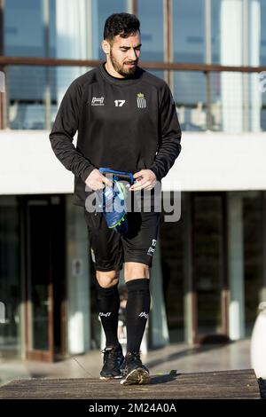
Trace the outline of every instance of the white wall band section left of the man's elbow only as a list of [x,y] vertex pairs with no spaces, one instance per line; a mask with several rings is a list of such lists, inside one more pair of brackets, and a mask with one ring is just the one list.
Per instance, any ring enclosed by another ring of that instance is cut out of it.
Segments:
[[49,132],[0,130],[0,194],[72,193],[73,175],[51,150]]

